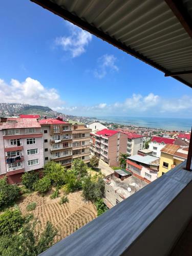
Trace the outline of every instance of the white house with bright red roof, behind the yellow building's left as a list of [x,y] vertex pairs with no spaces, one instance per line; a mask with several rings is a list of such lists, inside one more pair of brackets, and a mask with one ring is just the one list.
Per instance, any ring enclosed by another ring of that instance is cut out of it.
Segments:
[[157,137],[154,136],[150,143],[148,143],[148,149],[153,151],[152,155],[155,157],[161,156],[161,150],[166,144],[174,144],[175,139],[165,138],[165,137]]

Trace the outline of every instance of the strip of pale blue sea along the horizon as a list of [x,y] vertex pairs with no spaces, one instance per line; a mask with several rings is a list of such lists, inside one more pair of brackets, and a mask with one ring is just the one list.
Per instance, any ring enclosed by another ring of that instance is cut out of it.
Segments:
[[115,122],[125,125],[136,125],[140,127],[160,128],[168,131],[182,130],[190,131],[192,118],[162,118],[162,117],[122,117],[122,116],[100,116],[100,121]]

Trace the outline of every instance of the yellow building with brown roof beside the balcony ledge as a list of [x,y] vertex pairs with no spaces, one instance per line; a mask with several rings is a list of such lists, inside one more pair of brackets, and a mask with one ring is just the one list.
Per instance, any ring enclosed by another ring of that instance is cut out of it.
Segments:
[[161,150],[158,177],[187,159],[188,147],[166,144]]

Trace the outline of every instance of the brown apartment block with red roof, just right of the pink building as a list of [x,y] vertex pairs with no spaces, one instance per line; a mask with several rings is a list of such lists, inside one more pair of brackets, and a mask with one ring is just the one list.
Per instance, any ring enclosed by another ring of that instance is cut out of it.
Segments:
[[71,167],[72,164],[72,124],[61,118],[39,120],[44,143],[44,161],[50,160]]

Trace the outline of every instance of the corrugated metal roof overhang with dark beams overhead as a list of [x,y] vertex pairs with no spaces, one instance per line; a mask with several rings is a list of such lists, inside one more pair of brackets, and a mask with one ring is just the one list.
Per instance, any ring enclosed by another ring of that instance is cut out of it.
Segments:
[[192,88],[191,0],[31,0]]

